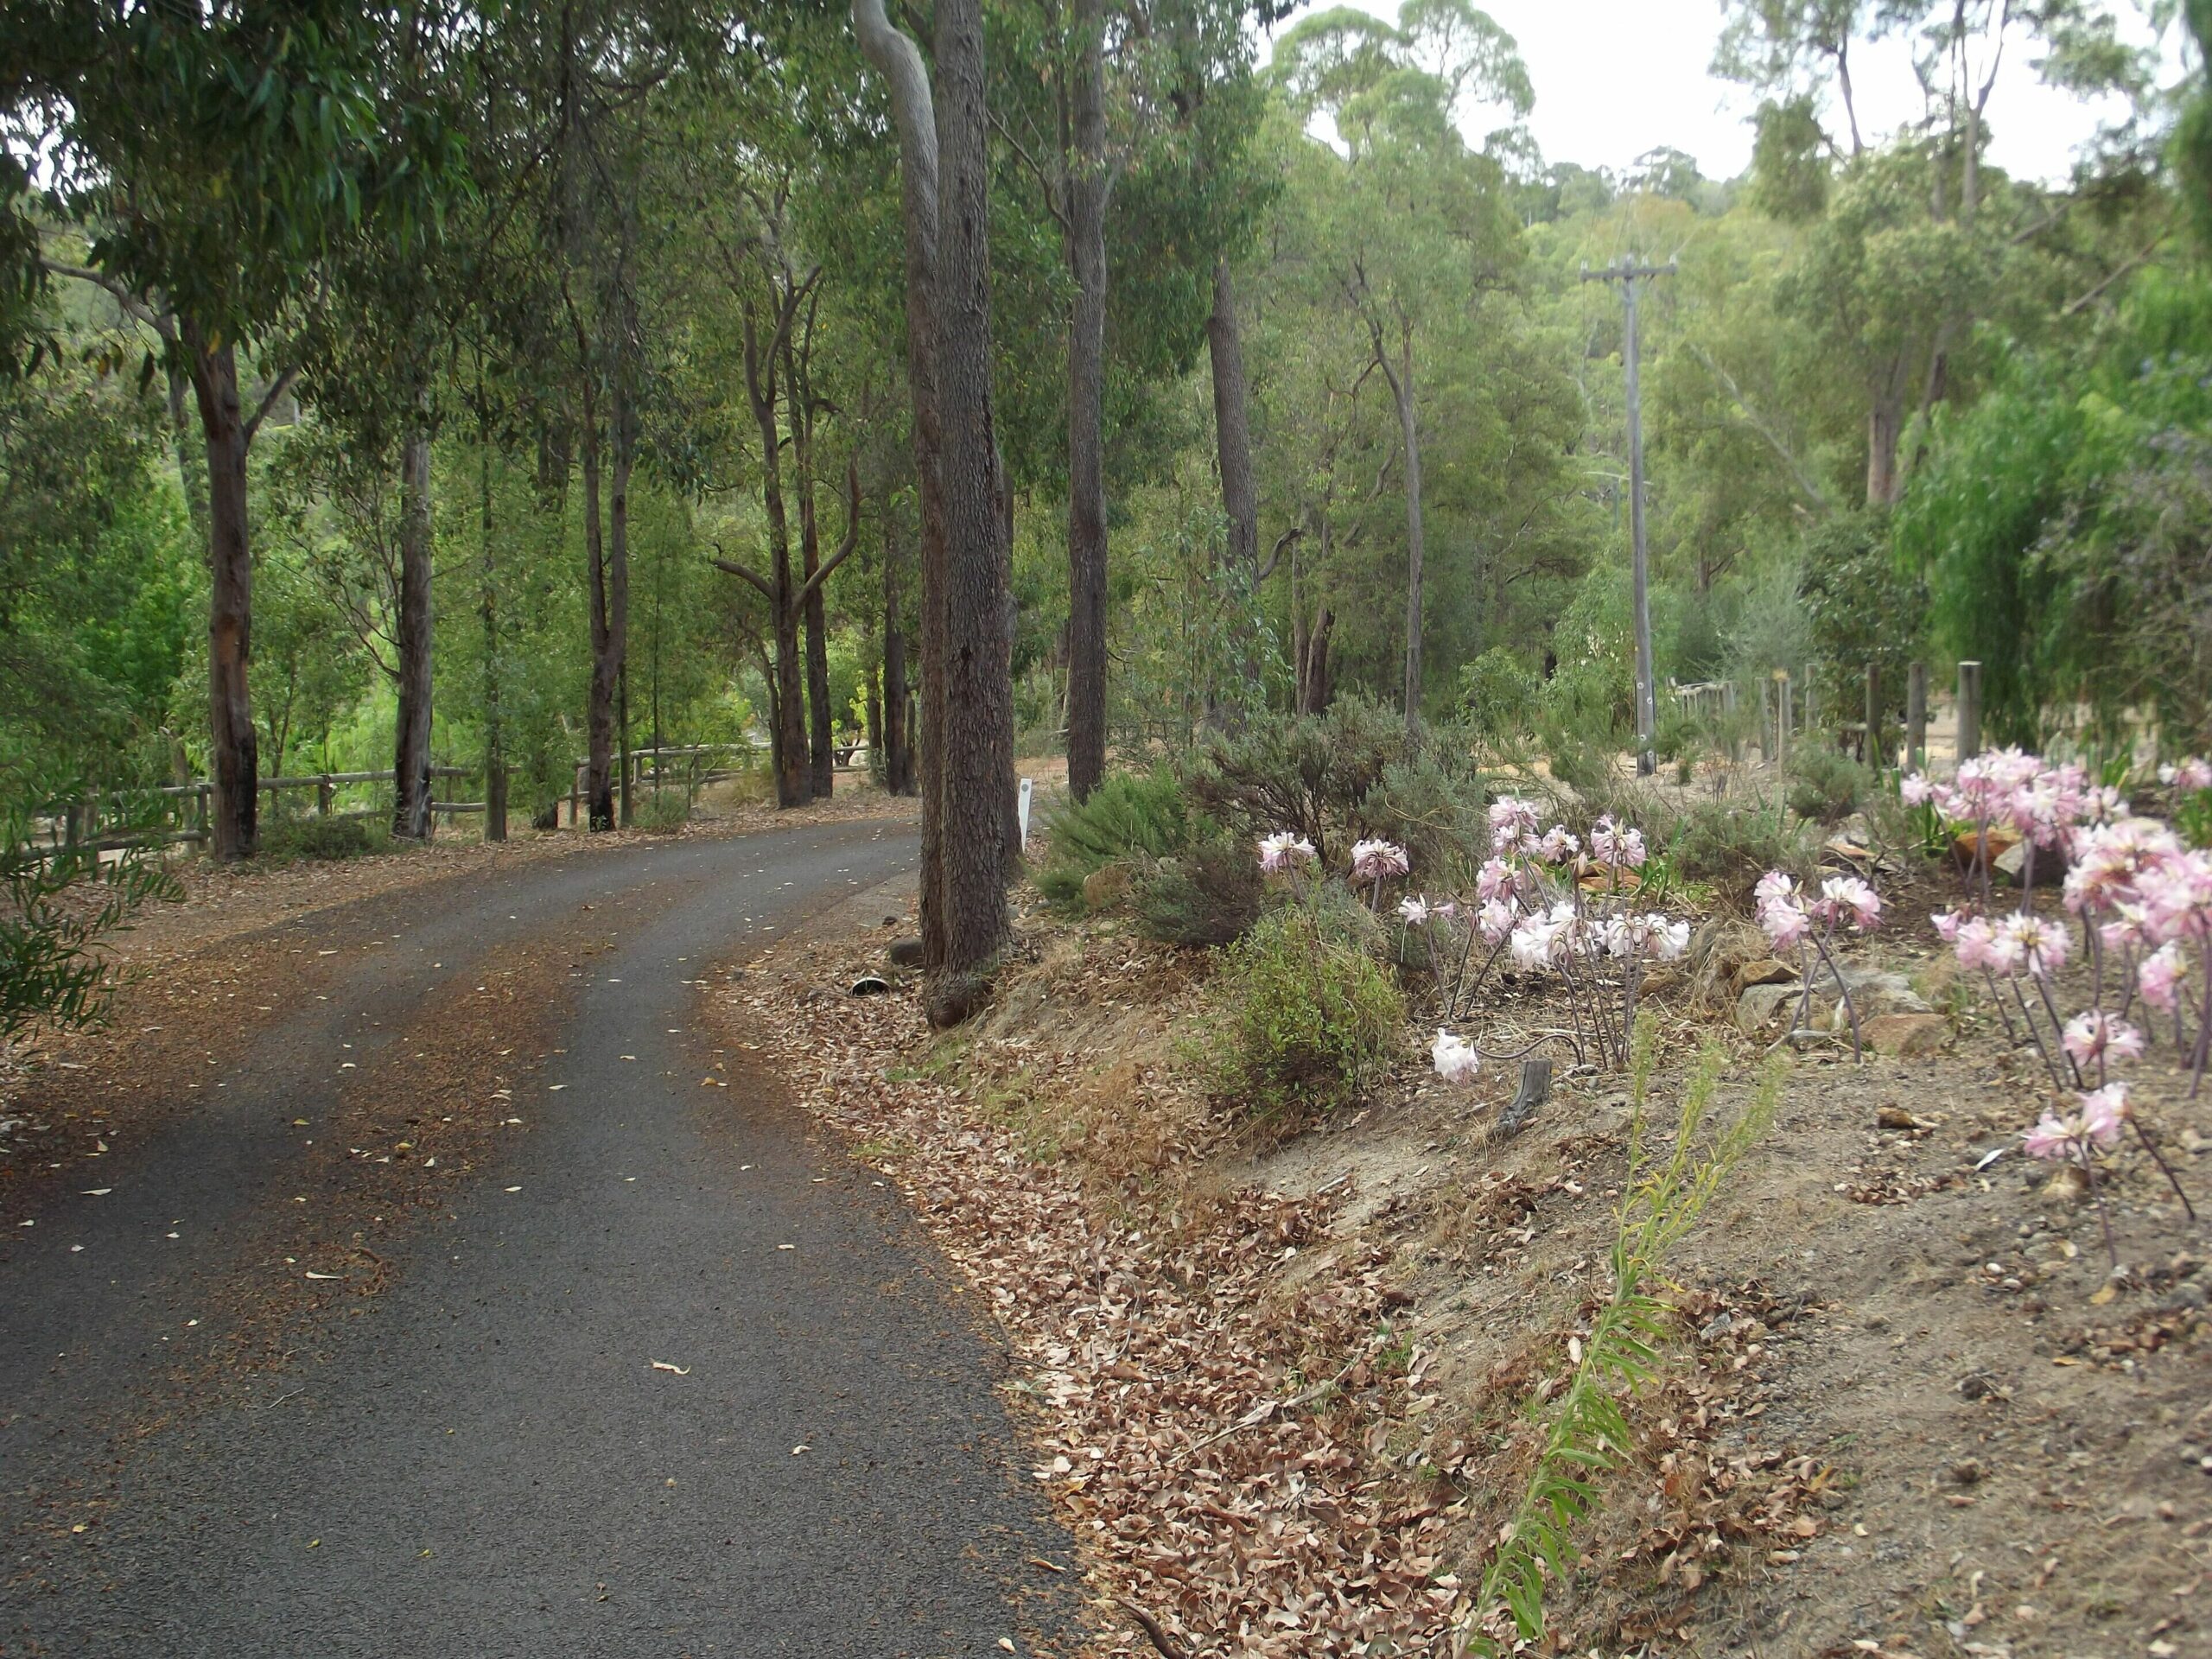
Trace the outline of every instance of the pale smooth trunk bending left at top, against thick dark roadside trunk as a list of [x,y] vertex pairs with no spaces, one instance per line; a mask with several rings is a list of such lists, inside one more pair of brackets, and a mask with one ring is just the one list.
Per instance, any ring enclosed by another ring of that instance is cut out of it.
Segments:
[[907,387],[914,405],[914,471],[922,509],[922,967],[945,964],[945,431],[938,411],[938,128],[922,53],[891,29],[883,0],[852,0],[860,51],[891,88],[898,124],[900,212],[907,230]]

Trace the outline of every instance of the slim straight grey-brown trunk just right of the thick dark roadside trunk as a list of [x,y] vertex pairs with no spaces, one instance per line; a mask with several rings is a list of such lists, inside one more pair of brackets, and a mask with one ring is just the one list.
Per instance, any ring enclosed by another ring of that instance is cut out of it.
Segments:
[[1102,0],[1075,0],[1068,164],[1068,794],[1106,776],[1106,71]]

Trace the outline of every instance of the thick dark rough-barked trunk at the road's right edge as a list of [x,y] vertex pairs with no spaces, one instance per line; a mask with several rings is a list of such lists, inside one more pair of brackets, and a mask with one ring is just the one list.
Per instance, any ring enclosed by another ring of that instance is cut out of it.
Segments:
[[1009,549],[991,411],[989,148],[980,0],[938,0],[938,341],[945,495],[940,750],[945,964],[931,1018],[967,1018],[1006,938],[1013,801]]

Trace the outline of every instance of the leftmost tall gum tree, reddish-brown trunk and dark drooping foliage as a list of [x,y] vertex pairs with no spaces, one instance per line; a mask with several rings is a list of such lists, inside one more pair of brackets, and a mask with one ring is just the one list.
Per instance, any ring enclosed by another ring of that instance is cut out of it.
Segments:
[[[285,0],[11,9],[11,93],[44,108],[51,201],[88,230],[86,272],[175,319],[208,487],[210,852],[257,843],[259,743],[246,456],[290,369],[248,405],[241,345],[272,343],[352,237],[420,246],[458,164],[440,113],[387,102],[392,13]],[[403,135],[400,142],[394,135]],[[27,239],[33,270],[51,274]]]

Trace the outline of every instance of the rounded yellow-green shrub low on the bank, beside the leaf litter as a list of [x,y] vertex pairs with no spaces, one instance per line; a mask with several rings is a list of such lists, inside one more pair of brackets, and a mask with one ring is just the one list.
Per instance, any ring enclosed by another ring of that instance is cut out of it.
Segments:
[[1383,967],[1301,907],[1261,918],[1214,987],[1228,1024],[1214,1086],[1270,1115],[1356,1102],[1405,1020]]

